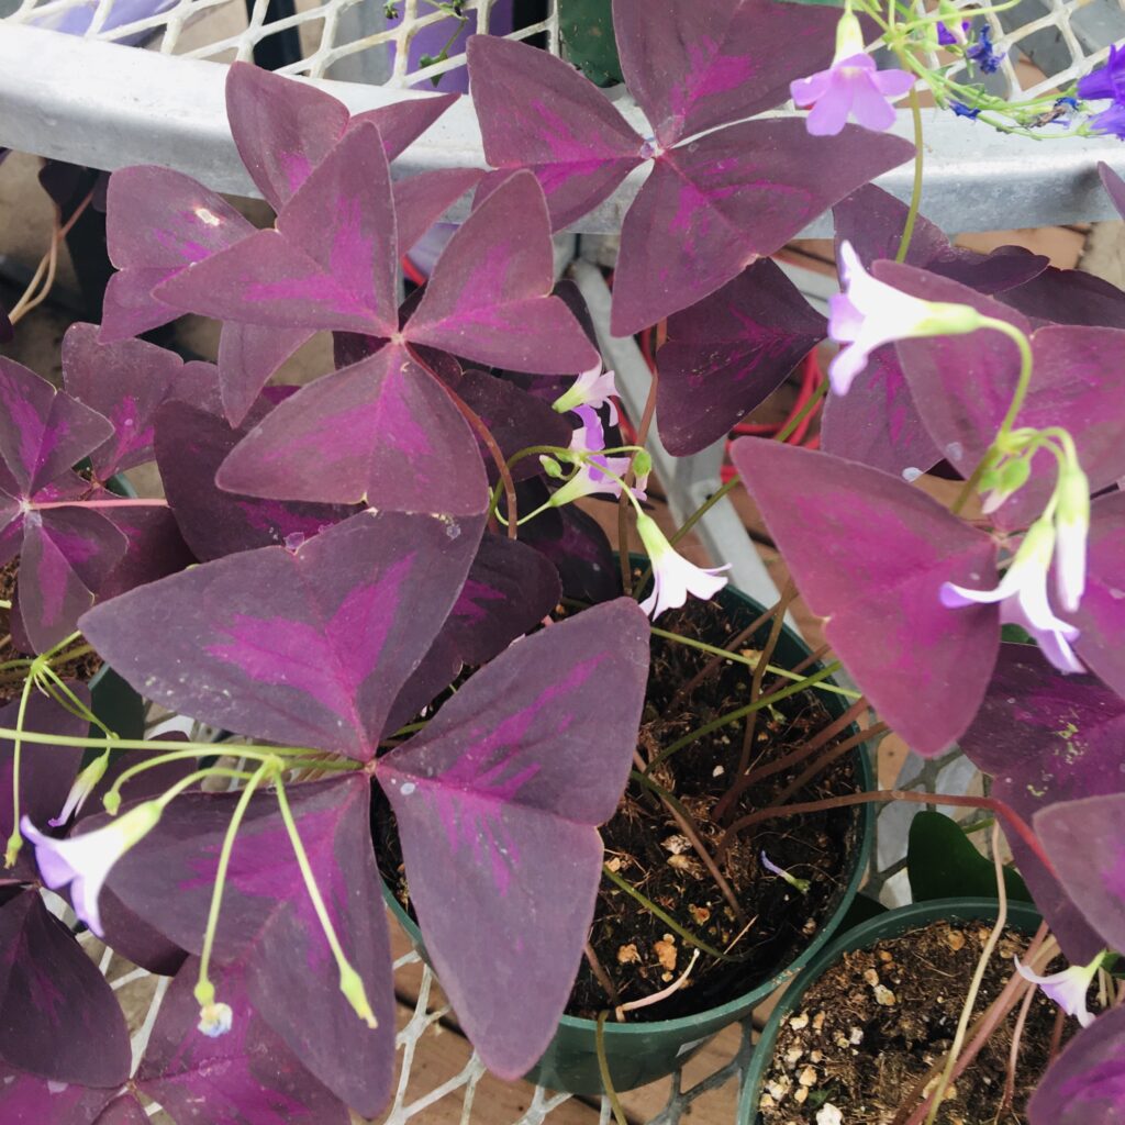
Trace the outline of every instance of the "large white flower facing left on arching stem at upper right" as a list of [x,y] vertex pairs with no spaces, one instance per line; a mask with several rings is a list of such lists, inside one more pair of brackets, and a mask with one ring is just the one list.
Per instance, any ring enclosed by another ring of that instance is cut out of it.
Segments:
[[828,367],[837,395],[867,366],[867,357],[883,344],[912,336],[962,335],[980,327],[981,315],[969,305],[921,300],[873,278],[849,242],[840,244],[844,291],[828,300],[828,335],[847,344]]

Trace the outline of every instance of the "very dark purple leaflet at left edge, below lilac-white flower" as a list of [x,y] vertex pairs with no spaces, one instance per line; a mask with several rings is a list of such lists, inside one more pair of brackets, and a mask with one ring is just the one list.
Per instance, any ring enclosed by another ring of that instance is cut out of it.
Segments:
[[0,1066],[63,1084],[118,1087],[129,1062],[112,990],[38,890],[0,907]]

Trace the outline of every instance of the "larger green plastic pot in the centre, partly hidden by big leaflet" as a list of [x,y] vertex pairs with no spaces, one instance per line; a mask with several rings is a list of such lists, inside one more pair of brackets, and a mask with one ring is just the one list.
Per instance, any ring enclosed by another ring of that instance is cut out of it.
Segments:
[[[647,564],[647,559],[641,557],[636,557],[633,561],[641,567]],[[757,602],[730,586],[721,591],[717,600],[737,628],[745,628],[763,612]],[[778,663],[790,667],[809,655],[808,647],[789,628],[783,630],[776,651]],[[834,718],[846,709],[843,696],[825,693],[822,698]],[[857,750],[854,760],[862,786],[870,790],[873,777],[866,754]],[[855,818],[857,843],[852,850],[847,868],[842,873],[842,885],[835,906],[825,918],[819,932],[791,963],[778,966],[777,971],[766,980],[754,983],[727,1004],[698,1015],[651,1023],[606,1023],[605,1056],[614,1089],[634,1089],[670,1074],[712,1035],[747,1016],[771,992],[790,980],[828,942],[855,898],[871,852],[874,825],[872,807],[857,808]],[[395,917],[424,955],[417,926],[386,884],[384,884],[384,897]],[[554,1090],[601,1094],[603,1084],[597,1062],[594,1022],[564,1016],[555,1038],[542,1059],[529,1072],[528,1079]]]

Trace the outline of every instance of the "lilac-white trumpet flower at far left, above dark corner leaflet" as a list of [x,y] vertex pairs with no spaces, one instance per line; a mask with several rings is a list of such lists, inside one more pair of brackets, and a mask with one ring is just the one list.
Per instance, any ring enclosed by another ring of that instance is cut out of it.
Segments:
[[24,817],[20,831],[35,845],[35,862],[43,882],[53,891],[70,885],[74,914],[98,937],[105,937],[98,896],[115,863],[156,827],[163,809],[159,801],[145,801],[104,828],[56,840],[44,836]]

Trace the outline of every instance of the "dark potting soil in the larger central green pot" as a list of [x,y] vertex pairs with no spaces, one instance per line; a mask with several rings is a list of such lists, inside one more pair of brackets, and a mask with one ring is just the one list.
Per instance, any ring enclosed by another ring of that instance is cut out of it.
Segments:
[[[730,620],[730,613],[713,603],[690,602],[683,610],[660,619],[667,631],[727,644],[750,621],[749,615]],[[740,651],[758,649],[768,626]],[[649,760],[664,746],[749,701],[750,669],[723,662],[721,670],[706,680],[686,704],[674,703],[677,690],[710,659],[685,645],[652,638],[652,662],[638,750]],[[771,662],[776,663],[776,660]],[[776,691],[770,674],[764,686]],[[790,696],[758,714],[752,766],[789,754],[806,744],[831,720],[816,688]],[[690,812],[700,838],[713,855],[726,824],[712,813],[737,772],[745,722],[732,723],[677,752],[654,770],[654,780]],[[847,731],[828,744],[847,737]],[[807,759],[744,792],[737,802],[737,819],[771,804]],[[845,755],[796,791],[789,801],[814,801],[854,793],[860,774],[854,755]],[[729,821],[728,821],[729,822]],[[740,836],[729,849],[721,871],[728,880],[740,915],[727,902],[714,880],[685,840],[675,819],[648,790],[636,781],[602,826],[606,862],[649,901],[670,915],[680,926],[704,943],[742,958],[720,961],[701,954],[687,981],[667,999],[628,1012],[630,1022],[672,1019],[726,1004],[771,980],[788,968],[820,932],[839,903],[847,883],[850,856],[861,838],[856,809],[832,809],[801,817],[766,821]],[[381,794],[374,813],[376,852],[380,871],[393,892],[408,907],[402,852],[389,808]],[[792,875],[808,880],[802,894],[764,868],[762,853]],[[609,975],[616,999],[611,999],[583,960],[567,1011],[595,1017],[615,1004],[650,997],[668,987],[687,968],[693,948],[649,910],[602,880],[591,930],[591,944]]]

